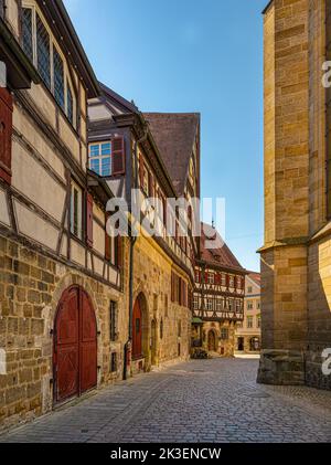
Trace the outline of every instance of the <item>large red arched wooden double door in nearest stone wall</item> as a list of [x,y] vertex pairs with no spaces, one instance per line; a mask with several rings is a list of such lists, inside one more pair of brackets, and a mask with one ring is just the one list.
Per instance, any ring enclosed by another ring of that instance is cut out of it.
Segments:
[[54,325],[54,402],[62,402],[97,384],[97,325],[86,292],[66,289]]

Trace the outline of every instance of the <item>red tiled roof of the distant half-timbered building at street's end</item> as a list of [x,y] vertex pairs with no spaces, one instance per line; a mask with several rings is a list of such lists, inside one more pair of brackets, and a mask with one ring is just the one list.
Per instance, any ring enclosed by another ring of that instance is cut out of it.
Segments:
[[[201,224],[201,239],[200,239],[200,251],[201,251],[201,260],[207,262],[212,265],[216,266],[224,266],[228,268],[235,268],[239,271],[245,271],[243,266],[239,264],[237,258],[231,252],[228,246],[222,240],[218,232],[213,229],[210,224],[202,223]],[[205,243],[209,240],[213,240],[217,236],[221,246],[216,249],[206,249]]]

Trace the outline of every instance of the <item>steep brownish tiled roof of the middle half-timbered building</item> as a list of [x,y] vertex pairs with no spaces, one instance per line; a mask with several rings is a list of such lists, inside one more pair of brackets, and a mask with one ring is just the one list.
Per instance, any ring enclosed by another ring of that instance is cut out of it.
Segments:
[[189,161],[200,123],[197,113],[143,113],[161,157],[172,179],[175,192],[185,188]]

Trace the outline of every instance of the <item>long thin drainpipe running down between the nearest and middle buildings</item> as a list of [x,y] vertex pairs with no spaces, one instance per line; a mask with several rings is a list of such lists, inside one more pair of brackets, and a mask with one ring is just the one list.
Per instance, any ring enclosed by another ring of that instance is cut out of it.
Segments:
[[[132,186],[135,189],[138,189],[138,146],[142,144],[148,136],[148,128],[145,127],[145,134],[143,136],[135,141],[135,148],[134,148],[134,163],[135,163],[135,176],[134,176],[134,182]],[[134,223],[132,219],[132,205],[130,201],[130,208],[129,213],[131,218],[131,223]],[[135,224],[131,224],[131,233]],[[124,373],[122,379],[126,380],[128,378],[128,367],[131,363],[131,345],[132,345],[132,320],[134,320],[134,250],[136,244],[137,237],[130,235],[130,270],[129,270],[129,338],[127,344],[125,345],[125,353],[124,353]]]

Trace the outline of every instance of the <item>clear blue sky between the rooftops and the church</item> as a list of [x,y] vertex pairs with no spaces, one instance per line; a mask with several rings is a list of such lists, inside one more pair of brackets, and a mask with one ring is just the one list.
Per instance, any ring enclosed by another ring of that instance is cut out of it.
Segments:
[[226,242],[258,271],[267,0],[64,2],[100,81],[145,112],[201,113],[202,195],[225,198]]

